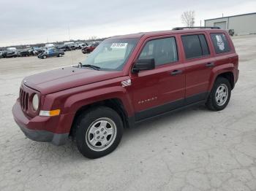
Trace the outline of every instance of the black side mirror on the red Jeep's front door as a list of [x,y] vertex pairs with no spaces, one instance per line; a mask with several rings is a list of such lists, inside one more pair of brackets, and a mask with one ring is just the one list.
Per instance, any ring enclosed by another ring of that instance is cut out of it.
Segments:
[[143,70],[151,70],[155,68],[154,58],[138,59],[132,68],[132,73],[138,73]]

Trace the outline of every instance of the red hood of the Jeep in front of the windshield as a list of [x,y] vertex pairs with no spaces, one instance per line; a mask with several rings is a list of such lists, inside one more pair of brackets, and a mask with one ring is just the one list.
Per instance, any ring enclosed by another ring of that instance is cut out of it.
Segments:
[[34,74],[26,77],[23,82],[26,83],[26,86],[38,90],[42,95],[45,95],[122,76],[122,71],[97,71],[86,68],[67,67]]

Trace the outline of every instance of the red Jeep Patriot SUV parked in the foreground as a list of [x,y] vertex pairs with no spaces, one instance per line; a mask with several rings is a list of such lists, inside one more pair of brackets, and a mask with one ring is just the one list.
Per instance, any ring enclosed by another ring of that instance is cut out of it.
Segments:
[[23,79],[13,106],[29,139],[75,139],[89,158],[107,155],[123,128],[173,110],[225,109],[238,80],[238,55],[218,28],[173,28],[103,41],[78,66]]

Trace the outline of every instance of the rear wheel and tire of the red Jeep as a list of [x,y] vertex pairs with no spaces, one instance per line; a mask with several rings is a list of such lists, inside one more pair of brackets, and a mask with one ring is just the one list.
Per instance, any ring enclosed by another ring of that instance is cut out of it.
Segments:
[[218,77],[214,82],[211,93],[208,96],[206,106],[212,111],[225,109],[230,101],[231,85],[224,77]]

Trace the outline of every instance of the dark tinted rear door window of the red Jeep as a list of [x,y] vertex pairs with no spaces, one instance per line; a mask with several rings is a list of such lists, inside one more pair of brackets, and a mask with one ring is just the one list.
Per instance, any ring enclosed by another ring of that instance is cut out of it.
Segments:
[[210,54],[206,37],[203,34],[181,36],[181,40],[187,59]]

